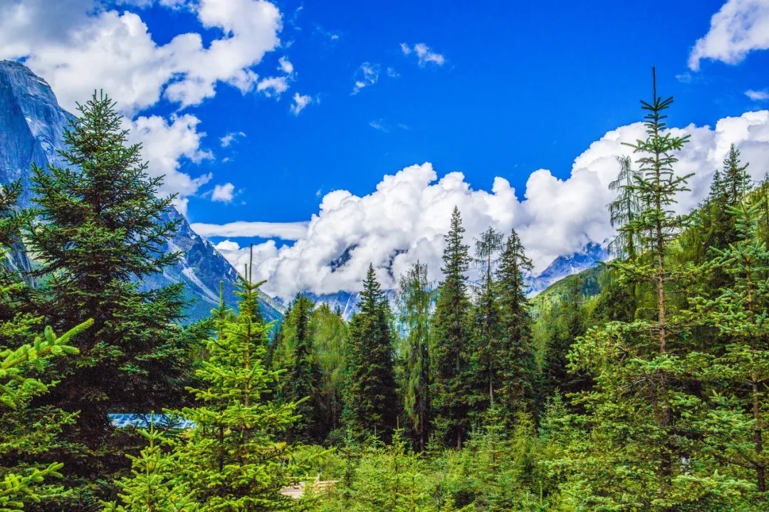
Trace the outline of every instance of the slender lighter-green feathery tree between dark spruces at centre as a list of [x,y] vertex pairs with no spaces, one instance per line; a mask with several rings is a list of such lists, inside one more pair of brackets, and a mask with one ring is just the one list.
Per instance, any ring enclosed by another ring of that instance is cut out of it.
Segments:
[[431,354],[430,310],[432,288],[427,264],[415,263],[401,276],[398,322],[404,335],[404,413],[414,435],[414,447],[422,452],[430,437]]

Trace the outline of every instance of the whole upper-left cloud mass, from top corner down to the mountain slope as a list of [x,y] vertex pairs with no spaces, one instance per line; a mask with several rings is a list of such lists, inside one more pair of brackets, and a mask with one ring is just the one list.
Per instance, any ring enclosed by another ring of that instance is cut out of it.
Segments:
[[[158,44],[141,11],[126,10],[156,3],[191,13],[199,32]],[[165,175],[161,193],[177,193],[182,213],[188,197],[211,179],[182,170],[184,161],[212,158],[202,149],[205,133],[195,115],[141,112],[162,100],[180,109],[198,105],[223,84],[278,97],[294,73],[285,57],[268,76],[256,71],[281,44],[281,13],[265,0],[0,0],[0,13],[0,59],[21,59],[69,111],[103,88],[126,116],[131,141],[144,145],[150,174]],[[212,37],[205,44],[204,33]],[[225,139],[223,146],[231,142]]]

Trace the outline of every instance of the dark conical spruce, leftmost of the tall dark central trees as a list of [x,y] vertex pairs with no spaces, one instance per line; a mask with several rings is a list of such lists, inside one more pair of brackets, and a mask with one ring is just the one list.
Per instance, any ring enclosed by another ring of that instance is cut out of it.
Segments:
[[363,281],[358,308],[350,321],[346,423],[355,434],[375,434],[388,441],[398,421],[398,392],[390,307],[373,265]]

